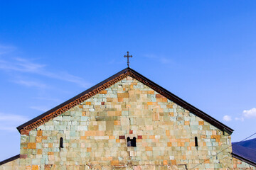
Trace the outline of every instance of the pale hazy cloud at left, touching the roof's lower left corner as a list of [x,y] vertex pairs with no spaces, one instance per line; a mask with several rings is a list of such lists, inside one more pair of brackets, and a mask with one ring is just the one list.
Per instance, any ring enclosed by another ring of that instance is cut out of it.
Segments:
[[0,130],[16,131],[16,127],[29,119],[22,115],[0,113]]

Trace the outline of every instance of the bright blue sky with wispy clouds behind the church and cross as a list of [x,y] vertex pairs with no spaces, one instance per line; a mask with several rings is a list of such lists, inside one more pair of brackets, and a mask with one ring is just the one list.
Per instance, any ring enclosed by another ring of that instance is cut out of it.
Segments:
[[[3,1],[0,161],[16,126],[127,67],[233,128],[255,132],[256,1]],[[255,137],[255,136],[254,136]]]

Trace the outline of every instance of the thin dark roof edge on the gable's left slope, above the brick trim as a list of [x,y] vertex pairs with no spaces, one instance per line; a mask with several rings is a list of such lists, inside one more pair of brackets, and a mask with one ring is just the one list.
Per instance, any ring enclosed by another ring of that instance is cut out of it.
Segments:
[[38,115],[36,118],[33,118],[31,120],[28,120],[28,122],[23,123],[22,125],[19,125],[17,127],[18,132],[20,132],[20,130],[24,127],[26,127],[27,125],[30,125],[33,122],[36,122],[37,120],[45,117],[46,115],[52,113],[53,111],[58,110],[59,108],[62,108],[63,106],[67,105],[68,103],[75,101],[75,99],[80,98],[81,96],[89,93],[90,91],[92,91],[93,89],[96,89],[97,87],[101,86],[102,84],[105,84],[107,81],[110,81],[111,79],[114,79],[114,77],[118,77],[120,74],[123,74],[125,72],[127,72],[129,70],[129,67],[127,67],[126,69],[123,69],[122,71],[118,72],[117,74],[114,74],[112,77],[109,77],[103,81],[101,81],[100,83],[96,84],[95,86],[92,86],[90,89],[87,89],[86,91],[82,91],[82,93],[78,94],[77,96],[70,98],[68,101],[65,101],[63,103],[61,103],[58,106],[55,106],[54,108],[50,109],[49,111],[46,111],[45,113]]

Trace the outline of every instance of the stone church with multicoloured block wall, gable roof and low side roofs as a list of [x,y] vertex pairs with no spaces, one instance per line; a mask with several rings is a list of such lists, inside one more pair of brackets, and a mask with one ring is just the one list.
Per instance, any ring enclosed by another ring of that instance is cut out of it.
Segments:
[[18,126],[7,169],[256,169],[233,130],[127,67]]

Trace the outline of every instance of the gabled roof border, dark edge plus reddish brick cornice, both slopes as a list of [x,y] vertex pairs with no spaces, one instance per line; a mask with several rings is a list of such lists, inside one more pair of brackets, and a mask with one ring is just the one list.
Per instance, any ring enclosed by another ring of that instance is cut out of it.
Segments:
[[207,115],[206,113],[192,106],[186,101],[183,101],[181,98],[178,98],[178,96],[175,96],[171,92],[167,91],[163,87],[147,79],[146,77],[142,76],[142,74],[139,74],[138,72],[134,71],[134,69],[131,69],[129,67],[127,67],[126,69],[123,69],[121,72],[118,72],[117,74],[114,74],[112,77],[105,79],[99,84],[92,86],[90,89],[83,91],[81,94],[78,94],[78,96],[70,98],[70,100],[65,101],[64,103],[61,103],[59,106],[56,106],[55,108],[50,109],[50,111],[47,111],[46,113],[38,115],[38,117],[33,118],[32,120],[29,120],[27,123],[24,123],[23,125],[18,126],[17,129],[19,132],[21,132],[21,134],[28,135],[28,133],[31,130],[37,128],[40,125],[43,125],[43,123],[48,122],[49,120],[57,117],[58,115],[64,113],[65,111],[68,111],[70,108],[77,106],[78,104],[94,96],[95,94],[99,94],[100,91],[107,89],[108,87],[112,86],[113,84],[117,83],[118,81],[128,76],[134,79],[137,79],[143,84],[146,84],[151,89],[154,89],[154,91],[165,96],[166,98],[169,98],[169,100],[174,101],[179,106],[187,109],[191,113],[194,113],[195,115],[202,118],[203,120],[206,120],[208,123],[214,125],[216,128],[219,128],[220,130],[223,130],[225,132],[228,132],[229,134],[232,134],[233,129],[229,128],[223,123],[220,123],[218,120],[215,120],[215,118],[212,118],[210,115]]

